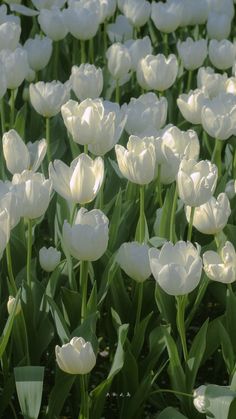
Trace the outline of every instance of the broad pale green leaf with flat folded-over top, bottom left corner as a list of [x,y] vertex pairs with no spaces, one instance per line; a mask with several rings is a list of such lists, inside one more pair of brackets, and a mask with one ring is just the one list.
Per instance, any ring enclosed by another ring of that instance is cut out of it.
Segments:
[[25,419],[37,419],[40,411],[44,367],[14,368],[16,391]]

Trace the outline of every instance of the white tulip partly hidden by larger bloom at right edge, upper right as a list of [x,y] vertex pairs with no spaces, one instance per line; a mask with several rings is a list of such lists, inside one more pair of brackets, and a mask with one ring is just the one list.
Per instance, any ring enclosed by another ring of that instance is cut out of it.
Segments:
[[204,89],[190,90],[189,93],[183,93],[177,99],[177,105],[186,121],[191,124],[201,124],[202,108],[206,103],[208,96]]

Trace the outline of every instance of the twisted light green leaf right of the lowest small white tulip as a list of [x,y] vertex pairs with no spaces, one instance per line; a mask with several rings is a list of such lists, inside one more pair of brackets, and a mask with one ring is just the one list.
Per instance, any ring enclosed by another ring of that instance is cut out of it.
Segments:
[[111,370],[106,380],[99,384],[90,394],[92,397],[91,418],[100,419],[113,378],[124,365],[124,344],[128,333],[128,324],[122,324],[118,329],[118,344],[114,355]]

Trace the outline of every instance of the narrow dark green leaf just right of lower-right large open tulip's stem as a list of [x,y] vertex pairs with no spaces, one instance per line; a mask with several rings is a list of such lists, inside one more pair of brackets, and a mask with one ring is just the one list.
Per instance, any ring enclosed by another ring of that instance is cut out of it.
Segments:
[[202,358],[206,349],[206,334],[208,328],[208,319],[202,325],[201,329],[195,336],[191,349],[189,351],[187,367],[186,367],[186,387],[188,392],[192,391],[197,376],[198,369],[201,365]]

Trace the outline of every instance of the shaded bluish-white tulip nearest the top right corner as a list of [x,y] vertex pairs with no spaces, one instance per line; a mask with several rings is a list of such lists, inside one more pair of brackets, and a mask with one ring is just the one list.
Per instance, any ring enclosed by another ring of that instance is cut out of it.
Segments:
[[210,39],[227,39],[231,31],[231,18],[225,13],[210,12],[207,19],[207,35]]

